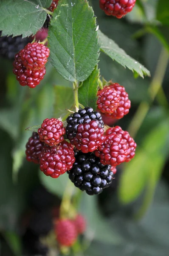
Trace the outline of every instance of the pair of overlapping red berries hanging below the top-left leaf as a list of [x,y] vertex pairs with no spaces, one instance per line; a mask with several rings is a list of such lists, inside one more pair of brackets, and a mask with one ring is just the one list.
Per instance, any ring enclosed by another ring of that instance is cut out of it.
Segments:
[[43,79],[50,50],[43,44],[28,43],[15,55],[13,73],[20,85],[34,88]]

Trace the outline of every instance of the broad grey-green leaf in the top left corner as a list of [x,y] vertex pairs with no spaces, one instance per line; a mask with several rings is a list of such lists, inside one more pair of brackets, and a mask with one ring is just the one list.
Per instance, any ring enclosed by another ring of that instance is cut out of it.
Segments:
[[34,35],[43,26],[51,0],[1,0],[2,35]]

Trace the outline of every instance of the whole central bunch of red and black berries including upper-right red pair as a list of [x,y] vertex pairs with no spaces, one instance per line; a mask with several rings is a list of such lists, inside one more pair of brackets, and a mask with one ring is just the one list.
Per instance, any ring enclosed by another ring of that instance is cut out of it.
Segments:
[[[100,112],[120,119],[129,112],[130,100],[123,86],[110,84],[98,91]],[[110,186],[115,167],[135,156],[136,143],[127,131],[115,126],[104,134],[101,113],[85,107],[67,118],[45,119],[26,144],[28,161],[53,178],[66,171],[76,187],[98,195]],[[64,140],[64,137],[70,141]]]

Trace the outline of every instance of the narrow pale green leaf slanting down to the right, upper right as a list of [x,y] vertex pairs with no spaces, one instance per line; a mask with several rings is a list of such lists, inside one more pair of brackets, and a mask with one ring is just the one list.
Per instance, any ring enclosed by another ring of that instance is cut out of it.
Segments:
[[131,58],[124,52],[123,49],[118,47],[115,42],[104,35],[101,31],[99,33],[99,42],[101,44],[101,51],[107,54],[110,58],[117,61],[123,67],[128,67],[130,70],[137,72],[141,77],[150,76],[149,70],[147,70],[138,61]]

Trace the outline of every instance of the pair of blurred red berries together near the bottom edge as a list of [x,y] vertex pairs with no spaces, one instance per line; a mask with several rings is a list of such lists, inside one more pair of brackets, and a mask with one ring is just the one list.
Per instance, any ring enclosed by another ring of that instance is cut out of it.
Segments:
[[60,246],[72,246],[78,236],[86,230],[85,218],[78,214],[75,219],[58,219],[55,223],[54,230],[56,240]]

